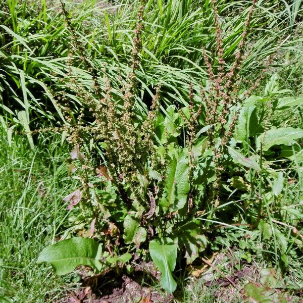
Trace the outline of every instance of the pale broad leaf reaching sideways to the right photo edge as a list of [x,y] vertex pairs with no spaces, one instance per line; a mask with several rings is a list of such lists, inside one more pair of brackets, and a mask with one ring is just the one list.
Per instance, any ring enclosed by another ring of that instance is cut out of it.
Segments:
[[281,127],[272,128],[269,131],[261,134],[257,138],[257,146],[260,148],[261,144],[263,150],[268,150],[273,145],[291,145],[295,143],[295,139],[300,139],[303,137],[303,130],[300,128],[292,127]]

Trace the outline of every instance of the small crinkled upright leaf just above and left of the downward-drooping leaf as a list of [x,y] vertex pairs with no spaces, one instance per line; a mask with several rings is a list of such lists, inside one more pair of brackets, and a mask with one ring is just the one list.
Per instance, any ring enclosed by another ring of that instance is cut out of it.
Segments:
[[146,239],[146,230],[141,227],[139,218],[134,215],[127,215],[124,219],[123,238],[126,244],[135,243],[139,246]]

